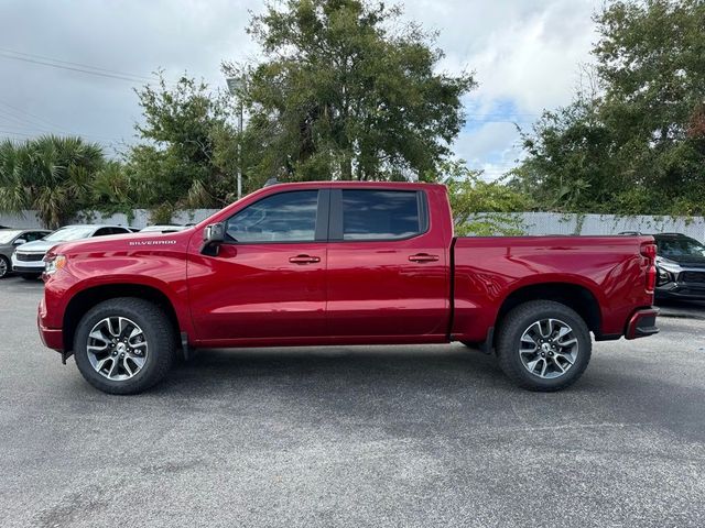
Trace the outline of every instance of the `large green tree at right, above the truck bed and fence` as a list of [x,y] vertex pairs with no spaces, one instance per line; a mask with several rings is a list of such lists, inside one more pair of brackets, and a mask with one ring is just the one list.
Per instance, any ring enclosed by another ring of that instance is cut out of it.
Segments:
[[596,90],[524,134],[514,185],[545,207],[705,212],[705,2],[612,1],[595,16]]

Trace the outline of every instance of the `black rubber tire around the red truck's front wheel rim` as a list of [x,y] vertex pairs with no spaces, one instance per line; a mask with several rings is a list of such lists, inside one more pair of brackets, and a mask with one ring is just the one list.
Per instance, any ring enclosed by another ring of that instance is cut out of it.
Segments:
[[[98,373],[88,356],[88,334],[102,319],[126,317],[143,331],[149,350],[141,367],[133,377],[109,380]],[[138,394],[161,382],[174,363],[176,355],[176,329],[156,305],[139,298],[120,297],[105,300],[83,317],[74,339],[74,356],[80,374],[94,387],[108,394]]]

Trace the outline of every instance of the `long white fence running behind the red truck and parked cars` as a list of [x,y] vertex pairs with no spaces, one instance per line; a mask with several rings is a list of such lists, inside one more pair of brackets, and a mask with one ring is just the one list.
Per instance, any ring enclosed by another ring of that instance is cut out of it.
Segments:
[[[215,209],[193,209],[181,211],[173,223],[196,223],[216,212]],[[617,234],[621,231],[642,233],[677,232],[705,240],[705,218],[703,217],[619,217],[615,215],[562,215],[557,212],[522,212],[517,215],[525,234]],[[143,228],[148,226],[150,211],[135,209],[132,221],[127,215],[102,216],[99,212],[82,215],[83,222],[117,223]],[[40,228],[36,211],[24,211],[21,216],[0,215],[0,226]]]

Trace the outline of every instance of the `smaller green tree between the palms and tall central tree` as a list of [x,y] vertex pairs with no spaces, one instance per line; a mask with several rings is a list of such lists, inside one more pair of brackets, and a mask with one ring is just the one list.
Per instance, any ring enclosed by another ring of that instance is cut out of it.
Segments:
[[174,86],[137,90],[143,143],[127,156],[130,185],[141,207],[221,207],[235,199],[238,140],[229,123],[231,101],[205,82],[182,77]]

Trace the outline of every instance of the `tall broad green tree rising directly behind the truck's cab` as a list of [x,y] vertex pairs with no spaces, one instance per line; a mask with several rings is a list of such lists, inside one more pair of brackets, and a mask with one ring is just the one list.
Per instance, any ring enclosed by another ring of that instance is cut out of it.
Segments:
[[434,35],[399,16],[365,0],[289,0],[252,19],[265,59],[224,65],[246,80],[252,182],[406,179],[438,168],[475,81],[437,73]]

